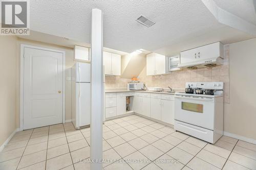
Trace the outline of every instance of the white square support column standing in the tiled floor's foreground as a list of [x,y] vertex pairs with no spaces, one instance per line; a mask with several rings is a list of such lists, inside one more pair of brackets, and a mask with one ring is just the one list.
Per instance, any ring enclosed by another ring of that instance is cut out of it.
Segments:
[[[103,15],[92,10],[91,20],[91,159],[102,160],[103,116]],[[102,163],[91,163],[92,170],[102,169]]]

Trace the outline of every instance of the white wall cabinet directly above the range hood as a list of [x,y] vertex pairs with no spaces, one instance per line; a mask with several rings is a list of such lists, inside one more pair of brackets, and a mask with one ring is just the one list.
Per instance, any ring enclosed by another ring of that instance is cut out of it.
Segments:
[[223,44],[215,42],[180,53],[180,63],[196,62],[203,59],[223,58]]

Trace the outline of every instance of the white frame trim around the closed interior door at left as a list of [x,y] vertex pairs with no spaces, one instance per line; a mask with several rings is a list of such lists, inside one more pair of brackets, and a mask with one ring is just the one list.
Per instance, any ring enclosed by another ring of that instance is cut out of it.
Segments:
[[23,131],[24,129],[24,49],[34,48],[37,50],[45,50],[50,52],[62,53],[62,123],[65,123],[65,51],[55,50],[51,48],[45,48],[40,46],[28,45],[28,44],[20,44],[20,84],[19,84],[19,131]]

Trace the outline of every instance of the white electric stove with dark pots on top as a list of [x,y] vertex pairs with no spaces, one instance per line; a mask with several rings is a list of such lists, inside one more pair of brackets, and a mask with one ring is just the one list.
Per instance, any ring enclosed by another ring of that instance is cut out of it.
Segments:
[[186,88],[214,90],[214,95],[176,93],[174,129],[215,143],[223,135],[223,82],[188,82]]

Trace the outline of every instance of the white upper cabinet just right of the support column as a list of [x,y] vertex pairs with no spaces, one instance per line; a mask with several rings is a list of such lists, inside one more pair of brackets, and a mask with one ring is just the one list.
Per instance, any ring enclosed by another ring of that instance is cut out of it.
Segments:
[[103,52],[103,65],[105,66],[105,75],[121,75],[121,55]]

